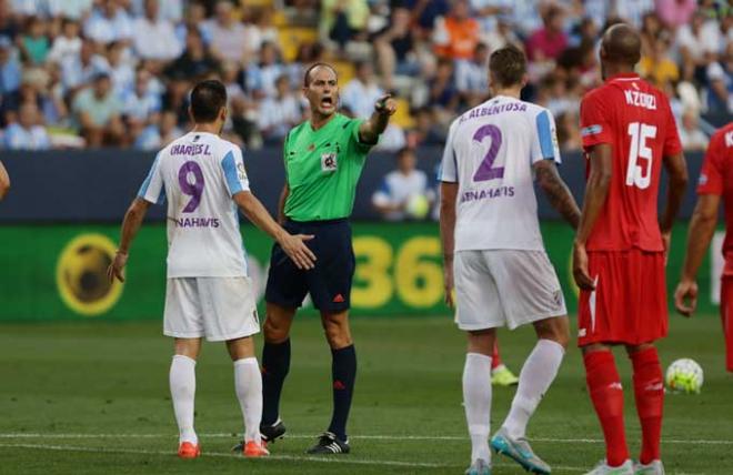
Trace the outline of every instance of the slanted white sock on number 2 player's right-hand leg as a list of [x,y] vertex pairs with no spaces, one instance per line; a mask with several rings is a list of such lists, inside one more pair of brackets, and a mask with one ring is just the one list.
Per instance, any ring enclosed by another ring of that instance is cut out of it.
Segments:
[[558,375],[564,354],[565,350],[560,343],[552,340],[538,341],[524,362],[512,408],[503,424],[510,437],[524,437],[526,424]]

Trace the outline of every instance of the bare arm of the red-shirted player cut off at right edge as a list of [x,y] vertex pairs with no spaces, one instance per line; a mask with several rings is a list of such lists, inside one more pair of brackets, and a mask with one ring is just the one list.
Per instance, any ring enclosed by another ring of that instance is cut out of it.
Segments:
[[697,305],[695,276],[715,233],[720,203],[721,198],[716,194],[701,195],[690,220],[687,252],[685,252],[684,264],[682,264],[680,284],[674,292],[674,306],[684,316],[692,315]]

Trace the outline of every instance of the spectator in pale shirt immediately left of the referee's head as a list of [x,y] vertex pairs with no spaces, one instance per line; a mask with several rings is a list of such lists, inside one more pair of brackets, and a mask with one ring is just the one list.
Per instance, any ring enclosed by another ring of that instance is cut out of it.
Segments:
[[[279,144],[288,131],[303,121],[303,109],[288,74],[275,80],[275,95],[260,102],[259,127],[265,144]],[[372,103],[372,110],[374,104]]]

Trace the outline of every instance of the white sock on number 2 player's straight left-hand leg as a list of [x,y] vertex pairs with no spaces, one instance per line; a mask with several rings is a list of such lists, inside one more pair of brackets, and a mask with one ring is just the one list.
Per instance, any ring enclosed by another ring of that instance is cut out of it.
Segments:
[[463,405],[471,435],[471,461],[491,462],[491,356],[466,353],[463,366]]

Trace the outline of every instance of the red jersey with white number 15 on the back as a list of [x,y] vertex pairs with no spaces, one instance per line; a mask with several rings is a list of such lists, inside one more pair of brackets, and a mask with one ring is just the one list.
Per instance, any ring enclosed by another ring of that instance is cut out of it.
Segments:
[[[619,74],[581,102],[583,148],[613,149],[609,195],[589,251],[663,251],[657,222],[662,158],[682,150],[666,97],[637,74]],[[588,155],[586,155],[588,156]],[[588,171],[593,166],[588,160]]]

